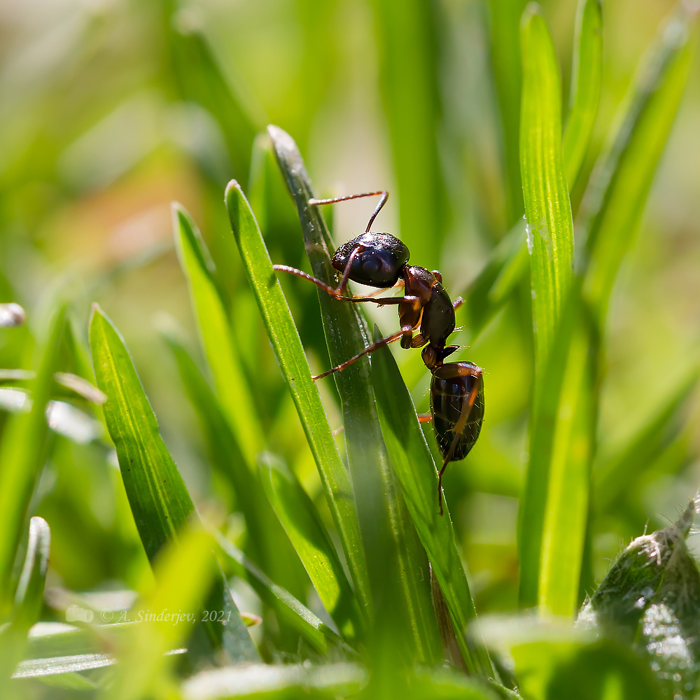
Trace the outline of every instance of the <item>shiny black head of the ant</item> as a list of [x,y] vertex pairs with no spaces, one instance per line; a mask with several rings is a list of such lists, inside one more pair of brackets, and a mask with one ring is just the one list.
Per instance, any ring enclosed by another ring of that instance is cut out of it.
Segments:
[[367,232],[342,244],[333,255],[333,267],[344,272],[351,260],[349,278],[372,287],[393,287],[408,262],[408,248],[388,233]]

